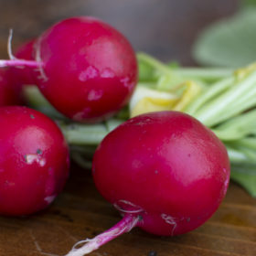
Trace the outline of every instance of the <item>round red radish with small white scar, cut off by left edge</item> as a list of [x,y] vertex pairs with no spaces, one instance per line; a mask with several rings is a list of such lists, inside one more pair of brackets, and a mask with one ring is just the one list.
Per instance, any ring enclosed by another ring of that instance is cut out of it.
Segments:
[[0,141],[0,214],[48,207],[69,176],[68,145],[58,125],[27,107],[2,107]]

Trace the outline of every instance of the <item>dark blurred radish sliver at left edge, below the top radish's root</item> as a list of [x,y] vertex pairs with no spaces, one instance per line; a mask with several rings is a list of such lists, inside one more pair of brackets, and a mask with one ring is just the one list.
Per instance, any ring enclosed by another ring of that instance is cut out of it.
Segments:
[[8,69],[0,69],[0,106],[20,103],[19,95],[13,86]]

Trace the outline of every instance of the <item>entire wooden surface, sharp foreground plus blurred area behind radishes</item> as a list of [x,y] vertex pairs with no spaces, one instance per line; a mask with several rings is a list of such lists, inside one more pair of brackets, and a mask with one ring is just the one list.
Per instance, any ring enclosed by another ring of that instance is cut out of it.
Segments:
[[[17,46],[61,18],[91,15],[120,29],[136,50],[195,64],[190,49],[198,32],[231,15],[237,5],[231,0],[0,0],[0,54],[6,57],[10,27]],[[90,171],[72,165],[65,190],[49,208],[26,218],[0,217],[0,255],[63,255],[74,242],[95,236],[119,219],[94,188]],[[91,255],[255,256],[256,199],[231,183],[221,207],[202,227],[174,238],[133,229]]]

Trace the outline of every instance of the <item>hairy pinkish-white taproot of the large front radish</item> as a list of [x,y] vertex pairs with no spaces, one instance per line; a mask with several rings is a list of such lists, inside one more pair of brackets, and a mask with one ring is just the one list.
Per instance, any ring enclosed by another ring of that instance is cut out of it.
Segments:
[[[66,256],[82,256],[97,250],[101,245],[113,240],[123,233],[129,232],[131,229],[137,226],[141,217],[139,215],[125,214],[123,219],[115,224],[111,229],[102,232],[92,240],[80,240],[77,242],[71,251]],[[78,245],[83,244],[80,248],[76,248]]]

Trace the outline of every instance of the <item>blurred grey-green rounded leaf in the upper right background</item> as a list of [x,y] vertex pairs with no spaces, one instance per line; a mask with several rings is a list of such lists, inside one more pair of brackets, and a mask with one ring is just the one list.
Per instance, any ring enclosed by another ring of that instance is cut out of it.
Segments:
[[256,7],[208,27],[197,38],[192,54],[203,65],[237,68],[256,61]]

